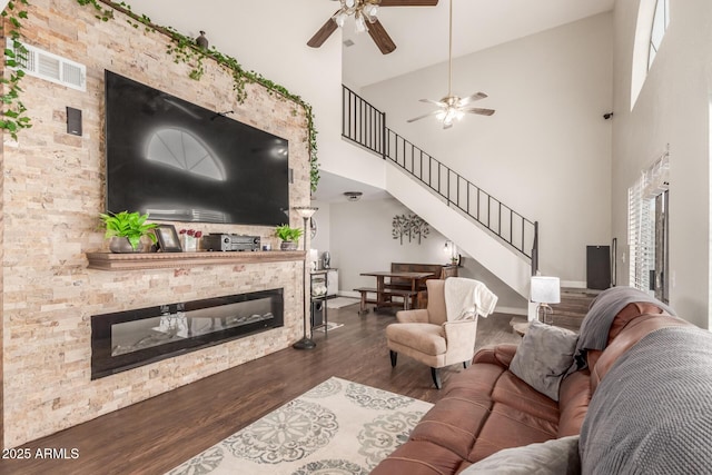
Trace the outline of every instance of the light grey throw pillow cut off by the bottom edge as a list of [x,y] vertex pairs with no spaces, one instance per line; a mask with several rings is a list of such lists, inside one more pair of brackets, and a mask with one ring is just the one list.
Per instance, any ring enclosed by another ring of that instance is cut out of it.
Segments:
[[461,475],[577,475],[578,436],[505,448],[461,472]]

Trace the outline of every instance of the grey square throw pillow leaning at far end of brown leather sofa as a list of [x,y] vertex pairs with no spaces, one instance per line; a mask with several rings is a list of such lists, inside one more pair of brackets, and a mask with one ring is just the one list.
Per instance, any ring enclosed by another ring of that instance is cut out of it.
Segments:
[[510,370],[534,389],[558,400],[558,386],[574,360],[577,338],[571,330],[533,320]]

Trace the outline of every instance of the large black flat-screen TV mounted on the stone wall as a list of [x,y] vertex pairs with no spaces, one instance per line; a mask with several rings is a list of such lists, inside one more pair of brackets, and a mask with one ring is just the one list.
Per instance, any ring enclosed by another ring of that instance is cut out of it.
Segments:
[[288,222],[286,139],[106,71],[107,210]]

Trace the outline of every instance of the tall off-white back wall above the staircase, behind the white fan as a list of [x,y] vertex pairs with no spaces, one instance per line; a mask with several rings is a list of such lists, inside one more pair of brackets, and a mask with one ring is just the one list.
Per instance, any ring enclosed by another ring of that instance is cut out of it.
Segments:
[[586,245],[611,241],[612,14],[512,41],[453,65],[453,91],[490,95],[442,130],[419,98],[447,92],[447,65],[365,88],[389,127],[532,220],[541,269],[585,285]]

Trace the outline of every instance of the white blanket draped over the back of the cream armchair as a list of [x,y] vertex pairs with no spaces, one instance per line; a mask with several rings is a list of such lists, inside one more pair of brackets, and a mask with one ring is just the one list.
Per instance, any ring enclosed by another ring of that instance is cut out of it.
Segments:
[[494,311],[497,296],[479,280],[464,277],[445,279],[445,309],[447,320],[458,320],[468,316],[487,315]]

